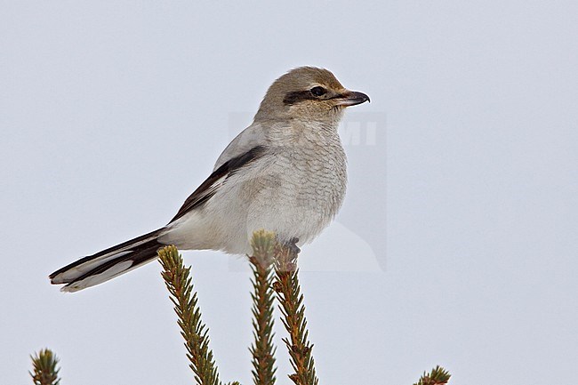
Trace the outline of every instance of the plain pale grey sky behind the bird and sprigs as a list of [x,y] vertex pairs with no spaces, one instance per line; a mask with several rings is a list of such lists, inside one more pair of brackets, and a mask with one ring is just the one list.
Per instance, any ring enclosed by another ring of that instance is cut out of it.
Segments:
[[[0,367],[189,384],[159,267],[81,293],[54,269],[165,224],[287,69],[371,104],[349,190],[303,247],[324,384],[571,383],[578,362],[578,4],[2,2]],[[185,253],[224,381],[251,383],[242,261]],[[279,330],[279,337],[283,335]],[[279,346],[279,383],[289,383]]]

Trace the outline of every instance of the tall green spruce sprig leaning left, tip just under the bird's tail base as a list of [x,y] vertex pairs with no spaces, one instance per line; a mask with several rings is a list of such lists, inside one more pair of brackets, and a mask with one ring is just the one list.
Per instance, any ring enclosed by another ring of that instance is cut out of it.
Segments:
[[209,349],[209,330],[201,321],[197,293],[193,293],[190,267],[184,267],[182,257],[174,246],[166,246],[159,250],[158,257],[163,267],[161,274],[165,279],[166,288],[171,293],[174,311],[179,317],[178,324],[185,339],[189,366],[195,373],[195,380],[198,385],[221,385],[213,352]]

